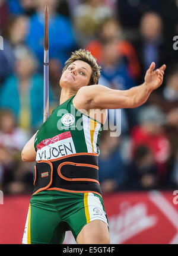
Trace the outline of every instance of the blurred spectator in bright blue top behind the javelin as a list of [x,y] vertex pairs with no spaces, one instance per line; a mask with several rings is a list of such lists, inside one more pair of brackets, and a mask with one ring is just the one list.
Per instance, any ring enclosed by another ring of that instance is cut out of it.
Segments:
[[75,49],[75,38],[68,18],[56,13],[57,0],[37,0],[36,14],[30,17],[27,45],[34,51],[40,63],[44,58],[44,10],[49,8],[49,58],[58,58],[63,65],[71,50]]

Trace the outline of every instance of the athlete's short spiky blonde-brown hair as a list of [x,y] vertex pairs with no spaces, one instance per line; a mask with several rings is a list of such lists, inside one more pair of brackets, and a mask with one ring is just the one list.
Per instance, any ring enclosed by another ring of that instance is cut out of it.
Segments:
[[91,52],[85,49],[79,49],[72,52],[71,57],[65,62],[65,67],[63,68],[62,72],[65,71],[74,61],[84,61],[88,63],[92,69],[89,85],[98,84],[101,67],[98,66],[96,58],[91,55]]

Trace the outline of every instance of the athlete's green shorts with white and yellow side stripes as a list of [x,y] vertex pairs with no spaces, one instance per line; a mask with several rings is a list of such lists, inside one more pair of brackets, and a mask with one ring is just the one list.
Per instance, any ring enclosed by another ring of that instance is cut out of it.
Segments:
[[31,197],[23,244],[62,244],[71,230],[75,240],[93,220],[108,220],[103,199],[92,192],[42,191]]

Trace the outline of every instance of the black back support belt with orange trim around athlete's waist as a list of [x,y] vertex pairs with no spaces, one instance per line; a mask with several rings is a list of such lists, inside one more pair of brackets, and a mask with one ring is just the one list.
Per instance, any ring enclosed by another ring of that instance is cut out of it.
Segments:
[[95,192],[98,182],[98,154],[76,153],[54,160],[40,160],[34,166],[33,195],[43,190]]

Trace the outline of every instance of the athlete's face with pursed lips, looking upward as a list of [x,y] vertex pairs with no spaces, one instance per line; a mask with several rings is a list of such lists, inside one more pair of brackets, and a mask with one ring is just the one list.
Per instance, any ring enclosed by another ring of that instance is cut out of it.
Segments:
[[71,89],[79,90],[83,86],[88,86],[91,78],[92,69],[84,61],[74,61],[63,71],[60,86],[71,86]]

